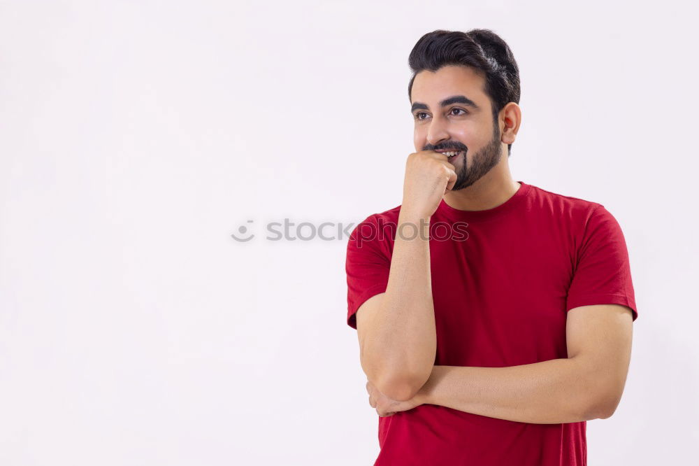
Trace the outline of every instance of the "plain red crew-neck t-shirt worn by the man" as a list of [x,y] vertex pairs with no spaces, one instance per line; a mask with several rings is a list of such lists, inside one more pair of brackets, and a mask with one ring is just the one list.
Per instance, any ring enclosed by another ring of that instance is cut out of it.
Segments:
[[[519,183],[493,209],[459,211],[442,199],[431,217],[435,365],[567,358],[565,318],[577,306],[621,304],[637,318],[626,242],[612,214]],[[359,306],[386,291],[400,209],[369,216],[349,237],[347,324],[354,329]],[[422,404],[379,417],[378,430],[375,465],[587,463],[585,422],[521,423]]]

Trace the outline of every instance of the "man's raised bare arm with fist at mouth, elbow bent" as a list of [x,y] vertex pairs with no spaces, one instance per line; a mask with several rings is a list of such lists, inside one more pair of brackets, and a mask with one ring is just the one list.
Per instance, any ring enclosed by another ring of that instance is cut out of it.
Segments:
[[408,156],[386,292],[356,313],[362,369],[394,400],[414,397],[435,362],[429,220],[454,183],[446,155],[426,150]]

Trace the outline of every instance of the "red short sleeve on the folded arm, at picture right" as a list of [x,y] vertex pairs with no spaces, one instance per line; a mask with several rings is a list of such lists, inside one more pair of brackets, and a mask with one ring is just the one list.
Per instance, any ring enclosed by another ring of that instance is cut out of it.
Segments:
[[633,311],[633,320],[638,317],[624,234],[601,204],[592,211],[579,244],[565,309],[591,304],[621,304]]

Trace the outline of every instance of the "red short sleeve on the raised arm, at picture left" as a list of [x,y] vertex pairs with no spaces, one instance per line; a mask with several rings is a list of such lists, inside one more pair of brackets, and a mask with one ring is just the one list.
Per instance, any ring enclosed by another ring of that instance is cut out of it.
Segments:
[[373,216],[359,223],[347,243],[347,325],[356,330],[356,311],[373,295],[386,291],[391,259],[387,238]]

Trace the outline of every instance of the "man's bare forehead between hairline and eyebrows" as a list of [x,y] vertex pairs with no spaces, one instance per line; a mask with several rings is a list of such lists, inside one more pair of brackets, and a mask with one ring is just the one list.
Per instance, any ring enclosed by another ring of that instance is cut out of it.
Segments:
[[412,81],[412,102],[424,102],[430,108],[452,95],[465,95],[482,108],[487,108],[485,80],[480,71],[470,66],[448,65],[437,71],[423,70]]

